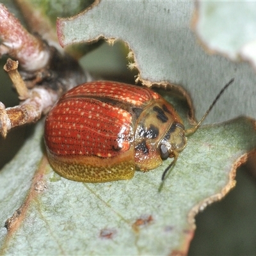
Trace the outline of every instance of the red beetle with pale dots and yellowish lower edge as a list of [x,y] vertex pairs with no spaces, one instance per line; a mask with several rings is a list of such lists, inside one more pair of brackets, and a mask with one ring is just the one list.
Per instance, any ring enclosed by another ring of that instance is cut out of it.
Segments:
[[45,120],[49,163],[61,176],[81,182],[131,179],[136,168],[152,170],[186,147],[187,134],[211,111],[185,130],[182,119],[149,88],[113,81],[84,83],[65,93]]

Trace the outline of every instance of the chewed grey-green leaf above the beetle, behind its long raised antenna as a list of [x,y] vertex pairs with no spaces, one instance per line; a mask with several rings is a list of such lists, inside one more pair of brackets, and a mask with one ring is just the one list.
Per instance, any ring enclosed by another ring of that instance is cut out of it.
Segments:
[[[234,6],[236,3],[228,1],[227,4]],[[191,29],[194,8],[193,1],[96,1],[93,8],[77,16],[59,19],[58,37],[61,45],[95,42],[99,38],[110,42],[113,38],[123,40],[134,54],[143,83],[167,81],[182,85],[191,95],[198,120],[214,95],[234,77],[232,88],[206,122],[223,122],[240,115],[255,118],[253,68],[248,63],[231,62],[225,56],[209,55],[204,51]],[[236,8],[236,12],[234,8],[225,10],[227,17],[236,17],[244,8]],[[246,12],[243,19],[249,27],[253,26]],[[211,26],[214,24],[214,31],[221,31],[223,23],[223,20],[214,19]],[[230,37],[236,36],[229,31],[225,38],[229,33]],[[239,40],[238,36],[233,40]],[[233,104],[227,108],[228,102]]]

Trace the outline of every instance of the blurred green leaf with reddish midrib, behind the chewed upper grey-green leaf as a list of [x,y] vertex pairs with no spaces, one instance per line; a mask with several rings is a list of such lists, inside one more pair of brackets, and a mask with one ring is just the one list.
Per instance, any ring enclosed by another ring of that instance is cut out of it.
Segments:
[[[61,51],[56,35],[56,19],[57,17],[67,17],[81,12],[84,8],[90,6],[93,0],[76,0],[76,1],[61,1],[61,0],[28,0],[15,1],[17,11],[23,13],[23,19],[26,20],[26,25],[29,31],[38,33],[49,44],[54,45]],[[4,3],[5,4],[5,3]],[[10,5],[10,4],[9,4]],[[23,20],[22,19],[22,20]],[[97,48],[99,44],[94,45],[70,45],[65,49],[66,52],[72,54],[76,58],[80,58],[84,54]]]

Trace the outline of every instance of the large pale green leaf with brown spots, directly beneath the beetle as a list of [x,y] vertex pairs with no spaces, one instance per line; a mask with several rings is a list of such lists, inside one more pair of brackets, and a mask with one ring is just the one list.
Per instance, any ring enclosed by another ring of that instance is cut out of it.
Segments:
[[201,127],[189,137],[159,193],[172,159],[150,172],[136,172],[131,180],[89,184],[60,177],[39,147],[40,122],[0,172],[1,255],[186,253],[196,212],[234,186],[236,166],[255,147],[254,125],[237,118]]

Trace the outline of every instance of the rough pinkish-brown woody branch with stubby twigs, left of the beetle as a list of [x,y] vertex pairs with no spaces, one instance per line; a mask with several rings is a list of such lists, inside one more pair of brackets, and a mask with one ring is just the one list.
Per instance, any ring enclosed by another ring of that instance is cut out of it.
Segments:
[[21,100],[12,108],[0,102],[0,132],[5,137],[15,126],[36,122],[63,92],[86,77],[76,60],[31,35],[4,4],[0,4],[0,42],[0,57],[16,60],[8,59],[4,70]]

